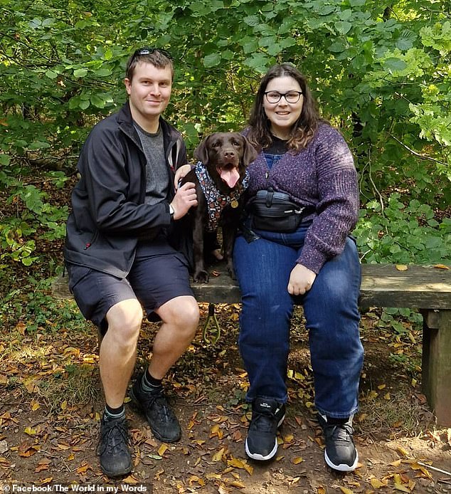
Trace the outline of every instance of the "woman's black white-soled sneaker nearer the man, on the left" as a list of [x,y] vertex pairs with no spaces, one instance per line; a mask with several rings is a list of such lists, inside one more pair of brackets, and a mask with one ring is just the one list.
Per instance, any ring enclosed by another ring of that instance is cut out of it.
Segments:
[[255,398],[245,451],[253,460],[270,460],[277,453],[277,428],[285,419],[285,405],[275,399]]

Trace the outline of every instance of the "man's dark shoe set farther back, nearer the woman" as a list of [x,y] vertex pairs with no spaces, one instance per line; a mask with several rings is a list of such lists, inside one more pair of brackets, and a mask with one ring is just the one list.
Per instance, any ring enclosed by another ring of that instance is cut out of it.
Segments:
[[130,396],[141,409],[154,436],[164,443],[174,443],[181,438],[181,429],[177,417],[171,410],[162,387],[156,391],[144,391],[141,386],[142,374],[130,390]]

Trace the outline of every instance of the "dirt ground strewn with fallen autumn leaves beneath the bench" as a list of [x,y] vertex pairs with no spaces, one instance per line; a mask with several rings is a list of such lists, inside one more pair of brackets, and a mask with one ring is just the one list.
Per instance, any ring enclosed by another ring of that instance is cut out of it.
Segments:
[[[183,431],[179,443],[156,441],[143,417],[127,404],[134,469],[119,480],[102,475],[95,456],[103,402],[94,332],[28,335],[19,324],[7,334],[0,332],[4,492],[13,484],[15,492],[23,492],[24,485],[34,486],[28,492],[60,492],[69,483],[90,492],[115,486],[159,494],[451,492],[451,429],[435,424],[420,392],[420,332],[406,323],[405,334],[394,337],[381,327],[377,313],[362,319],[366,360],[361,411],[354,422],[359,468],[342,475],[324,463],[302,314],[294,320],[290,400],[277,456],[267,464],[248,460],[243,443],[250,414],[236,344],[238,312],[238,305],[218,307],[218,343],[206,343],[200,331],[167,379]],[[206,313],[203,308],[202,322]],[[155,329],[150,324],[143,328],[137,372]]]

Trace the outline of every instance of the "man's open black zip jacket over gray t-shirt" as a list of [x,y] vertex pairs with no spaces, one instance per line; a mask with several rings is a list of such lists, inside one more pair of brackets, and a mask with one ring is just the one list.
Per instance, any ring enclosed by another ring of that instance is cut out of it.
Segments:
[[138,238],[152,240],[163,228],[179,238],[169,201],[175,194],[174,169],[186,163],[186,147],[180,133],[161,117],[160,125],[171,186],[168,201],[152,205],[144,203],[146,157],[129,104],[92,129],[78,160],[81,178],[66,226],[66,262],[124,278]]

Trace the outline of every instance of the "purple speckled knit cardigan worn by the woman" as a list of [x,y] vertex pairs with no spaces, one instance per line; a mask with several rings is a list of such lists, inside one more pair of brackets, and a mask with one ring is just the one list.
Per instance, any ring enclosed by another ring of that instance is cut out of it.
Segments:
[[298,204],[316,207],[316,213],[308,217],[312,224],[297,262],[319,273],[328,259],[343,251],[359,214],[357,173],[344,138],[334,127],[320,124],[299,153],[285,153],[268,169],[260,152],[248,170],[248,199],[272,186],[275,191],[290,194]]

